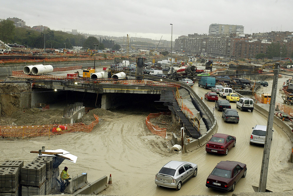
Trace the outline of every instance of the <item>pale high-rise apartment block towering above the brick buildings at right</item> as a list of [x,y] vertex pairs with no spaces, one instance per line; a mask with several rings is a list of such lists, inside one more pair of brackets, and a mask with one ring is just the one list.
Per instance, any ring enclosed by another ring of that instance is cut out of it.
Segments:
[[232,24],[211,24],[208,28],[209,35],[224,35],[231,33],[244,33],[244,26]]

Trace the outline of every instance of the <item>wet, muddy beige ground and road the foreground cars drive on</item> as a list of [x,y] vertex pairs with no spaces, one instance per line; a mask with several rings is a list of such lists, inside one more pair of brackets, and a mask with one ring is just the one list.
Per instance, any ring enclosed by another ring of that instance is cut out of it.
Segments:
[[[194,91],[203,96],[208,90],[194,85]],[[220,98],[221,99],[221,98]],[[214,102],[207,102],[212,108]],[[231,103],[236,108],[235,103]],[[140,108],[137,108],[138,110]],[[251,185],[258,186],[263,146],[249,145],[251,127],[266,124],[266,117],[258,112],[240,112],[240,122],[224,123],[221,112],[215,111],[219,133],[236,136],[236,147],[227,156],[207,154],[202,147],[188,154],[168,151],[167,141],[151,134],[145,126],[147,113],[123,113],[119,117],[100,117],[99,124],[91,133],[75,132],[50,137],[36,137],[14,141],[0,141],[0,162],[4,160],[33,160],[31,150],[62,148],[78,156],[77,163],[64,161],[71,176],[88,173],[89,182],[112,174],[113,186],[102,192],[105,195],[232,195],[208,189],[206,178],[221,160],[234,160],[247,164],[246,178],[241,179],[234,192],[253,192]],[[291,142],[287,135],[274,126],[274,136],[269,164],[267,189],[274,192],[291,190],[293,166],[287,163]],[[170,160],[185,160],[198,164],[198,175],[182,185],[180,191],[157,187],[155,174]]]

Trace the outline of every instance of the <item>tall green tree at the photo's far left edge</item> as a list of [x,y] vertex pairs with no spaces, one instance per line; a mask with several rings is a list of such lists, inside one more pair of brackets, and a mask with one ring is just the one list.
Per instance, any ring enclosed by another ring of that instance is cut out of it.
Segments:
[[14,29],[15,26],[13,21],[0,19],[0,40],[6,44],[9,43],[9,41],[13,42]]

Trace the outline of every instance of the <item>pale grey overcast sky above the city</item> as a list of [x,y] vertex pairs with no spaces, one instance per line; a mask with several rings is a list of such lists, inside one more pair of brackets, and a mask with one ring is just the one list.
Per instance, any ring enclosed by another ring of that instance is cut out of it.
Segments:
[[0,19],[27,26],[173,41],[208,34],[210,24],[243,25],[244,33],[293,31],[292,0],[0,0]]

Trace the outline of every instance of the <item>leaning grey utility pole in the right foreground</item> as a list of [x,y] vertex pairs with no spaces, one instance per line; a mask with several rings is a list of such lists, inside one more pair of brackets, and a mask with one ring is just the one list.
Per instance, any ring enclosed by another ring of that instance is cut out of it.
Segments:
[[268,177],[269,157],[270,157],[271,143],[272,143],[272,137],[273,137],[272,129],[273,129],[273,121],[274,121],[279,67],[280,67],[280,63],[275,63],[271,102],[270,102],[270,108],[269,108],[268,123],[266,125],[266,139],[264,142],[264,154],[263,154],[262,163],[261,163],[258,192],[266,192],[266,181]]

